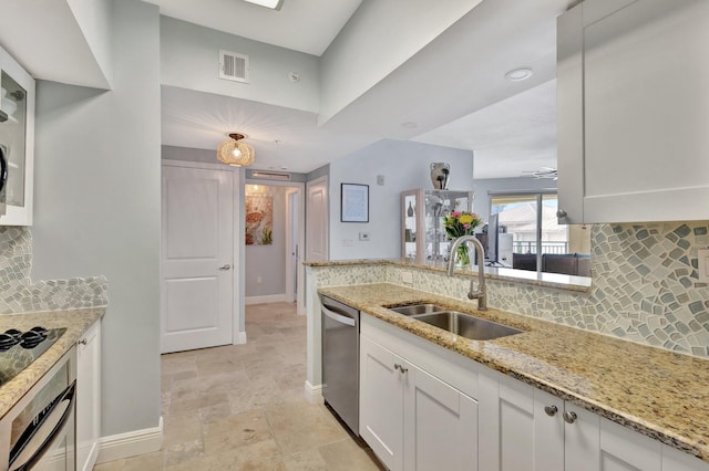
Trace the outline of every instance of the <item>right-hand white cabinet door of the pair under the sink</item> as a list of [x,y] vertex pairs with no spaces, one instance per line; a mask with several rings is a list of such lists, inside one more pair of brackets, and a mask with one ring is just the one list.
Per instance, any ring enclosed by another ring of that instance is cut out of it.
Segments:
[[404,363],[404,470],[477,470],[477,401]]

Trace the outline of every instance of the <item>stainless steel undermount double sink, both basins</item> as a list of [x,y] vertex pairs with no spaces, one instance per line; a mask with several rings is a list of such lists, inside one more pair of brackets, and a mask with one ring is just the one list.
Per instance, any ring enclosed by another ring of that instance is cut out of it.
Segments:
[[473,341],[491,341],[524,332],[436,304],[408,304],[388,308]]

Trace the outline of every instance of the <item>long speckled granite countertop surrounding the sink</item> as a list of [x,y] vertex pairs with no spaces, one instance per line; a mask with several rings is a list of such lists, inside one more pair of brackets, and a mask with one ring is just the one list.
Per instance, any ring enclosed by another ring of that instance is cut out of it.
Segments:
[[[709,362],[395,284],[319,293],[709,462]],[[526,331],[469,341],[384,306],[436,303]]]

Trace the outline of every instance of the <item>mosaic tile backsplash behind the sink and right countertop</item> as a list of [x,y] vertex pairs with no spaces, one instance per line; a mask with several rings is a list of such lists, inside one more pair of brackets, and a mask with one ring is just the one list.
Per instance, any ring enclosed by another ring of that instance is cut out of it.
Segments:
[[[699,357],[709,357],[709,285],[698,282],[697,249],[709,247],[709,222],[596,224],[588,293],[487,280],[491,306]],[[382,273],[383,272],[383,273]],[[463,299],[466,278],[394,264],[331,266],[318,285],[401,282]]]

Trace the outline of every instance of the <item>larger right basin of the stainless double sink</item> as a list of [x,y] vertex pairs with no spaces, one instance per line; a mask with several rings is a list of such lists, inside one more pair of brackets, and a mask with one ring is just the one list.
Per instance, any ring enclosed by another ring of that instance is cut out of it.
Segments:
[[413,316],[415,320],[425,322],[435,327],[460,335],[473,341],[491,341],[493,338],[506,337],[507,335],[522,334],[524,331],[497,324],[496,322],[474,317],[455,311],[445,311],[431,314],[420,314]]

